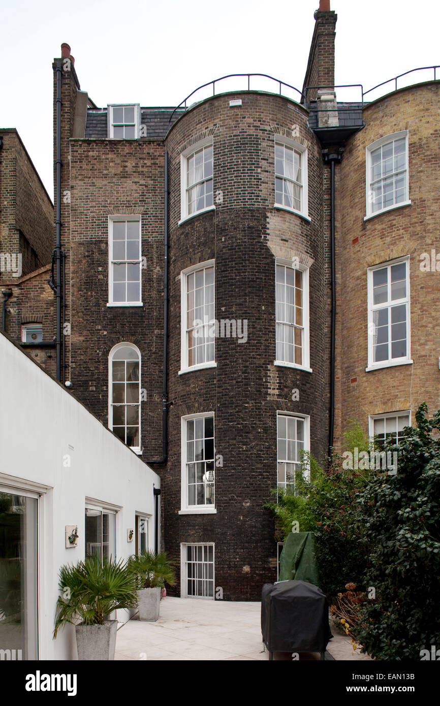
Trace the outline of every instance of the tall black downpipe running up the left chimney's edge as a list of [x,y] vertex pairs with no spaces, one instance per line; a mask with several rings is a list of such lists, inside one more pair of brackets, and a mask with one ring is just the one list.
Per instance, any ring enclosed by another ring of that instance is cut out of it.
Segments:
[[57,381],[61,381],[61,61],[57,61],[57,162],[56,196],[57,198],[57,244],[55,256],[57,262]]

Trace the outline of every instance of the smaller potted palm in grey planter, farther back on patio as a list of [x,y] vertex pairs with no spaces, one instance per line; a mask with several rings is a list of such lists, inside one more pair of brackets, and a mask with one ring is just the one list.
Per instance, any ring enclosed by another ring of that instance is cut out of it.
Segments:
[[174,586],[174,566],[165,551],[142,551],[129,558],[129,570],[136,579],[139,620],[159,618],[160,594],[165,582]]

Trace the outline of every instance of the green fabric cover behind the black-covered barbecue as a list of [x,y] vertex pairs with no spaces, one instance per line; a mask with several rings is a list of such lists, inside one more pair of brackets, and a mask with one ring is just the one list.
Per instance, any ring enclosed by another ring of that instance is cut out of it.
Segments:
[[290,532],[280,554],[280,581],[307,581],[319,586],[313,532]]

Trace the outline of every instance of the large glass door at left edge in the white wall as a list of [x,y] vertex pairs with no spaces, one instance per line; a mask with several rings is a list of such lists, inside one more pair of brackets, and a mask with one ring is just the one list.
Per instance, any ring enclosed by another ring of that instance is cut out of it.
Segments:
[[0,489],[1,657],[38,659],[38,501],[6,490]]

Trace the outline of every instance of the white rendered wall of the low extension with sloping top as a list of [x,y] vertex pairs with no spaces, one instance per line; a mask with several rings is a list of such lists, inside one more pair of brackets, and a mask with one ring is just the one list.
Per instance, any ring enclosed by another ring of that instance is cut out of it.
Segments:
[[[127,529],[134,530],[136,513],[150,515],[154,549],[153,486],[160,488],[160,478],[1,333],[0,486],[41,493],[40,659],[76,659],[73,627],[57,640],[52,630],[59,567],[84,558],[86,498],[117,510],[117,557],[126,558],[135,551]],[[78,545],[69,549],[66,525],[78,525]],[[118,611],[117,617],[126,621],[129,614]]]

